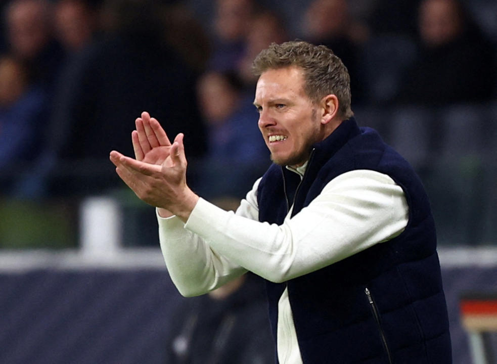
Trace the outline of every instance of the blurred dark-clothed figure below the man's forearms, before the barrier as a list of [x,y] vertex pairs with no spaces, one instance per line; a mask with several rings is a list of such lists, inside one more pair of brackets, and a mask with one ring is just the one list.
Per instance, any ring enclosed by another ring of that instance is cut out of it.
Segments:
[[259,277],[247,274],[182,299],[166,339],[167,364],[272,364],[275,345]]

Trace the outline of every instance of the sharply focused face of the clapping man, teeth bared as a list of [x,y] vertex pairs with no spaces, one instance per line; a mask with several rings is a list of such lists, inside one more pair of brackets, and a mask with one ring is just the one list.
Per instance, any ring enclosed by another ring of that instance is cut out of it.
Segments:
[[303,71],[299,67],[262,73],[254,105],[259,110],[259,129],[276,164],[304,164],[311,145],[323,140],[319,107],[305,94]]

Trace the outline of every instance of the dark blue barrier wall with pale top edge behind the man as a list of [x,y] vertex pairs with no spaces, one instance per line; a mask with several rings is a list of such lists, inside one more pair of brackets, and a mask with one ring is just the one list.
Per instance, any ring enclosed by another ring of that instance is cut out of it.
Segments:
[[[472,362],[459,297],[497,291],[497,251],[441,249],[455,364]],[[158,364],[182,302],[157,249],[0,255],[0,363]]]

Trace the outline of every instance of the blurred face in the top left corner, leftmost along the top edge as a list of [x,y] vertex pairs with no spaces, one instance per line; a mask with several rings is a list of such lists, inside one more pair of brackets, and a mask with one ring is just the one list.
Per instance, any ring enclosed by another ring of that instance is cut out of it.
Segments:
[[7,9],[9,41],[20,57],[32,58],[46,44],[49,38],[48,6],[38,0],[18,0]]

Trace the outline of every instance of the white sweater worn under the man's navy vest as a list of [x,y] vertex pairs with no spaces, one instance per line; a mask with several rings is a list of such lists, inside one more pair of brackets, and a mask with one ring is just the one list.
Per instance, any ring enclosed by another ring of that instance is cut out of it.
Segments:
[[[157,214],[164,260],[182,295],[207,293],[247,270],[285,282],[392,239],[408,222],[402,189],[376,171],[337,176],[282,225],[258,221],[259,181],[236,213],[201,198],[186,223]],[[287,290],[278,308],[280,364],[301,363]]]

